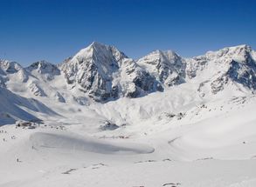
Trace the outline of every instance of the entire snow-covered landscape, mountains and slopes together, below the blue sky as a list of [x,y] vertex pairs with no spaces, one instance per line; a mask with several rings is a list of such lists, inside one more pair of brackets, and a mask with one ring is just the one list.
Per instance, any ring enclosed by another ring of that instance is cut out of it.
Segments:
[[247,45],[0,60],[0,187],[253,187],[255,73]]

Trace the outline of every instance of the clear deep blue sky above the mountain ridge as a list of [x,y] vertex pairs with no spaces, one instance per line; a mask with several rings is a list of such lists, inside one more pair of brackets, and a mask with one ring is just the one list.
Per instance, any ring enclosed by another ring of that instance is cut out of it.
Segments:
[[138,58],[183,57],[246,43],[256,49],[255,0],[0,0],[0,58],[62,62],[89,43]]

